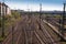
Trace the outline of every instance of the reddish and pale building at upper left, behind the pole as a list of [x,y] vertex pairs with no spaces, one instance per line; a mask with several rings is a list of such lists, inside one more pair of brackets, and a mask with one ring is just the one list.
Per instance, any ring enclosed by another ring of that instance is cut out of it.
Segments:
[[0,2],[0,15],[2,15],[2,14],[4,14],[4,15],[11,14],[11,10],[6,3]]

